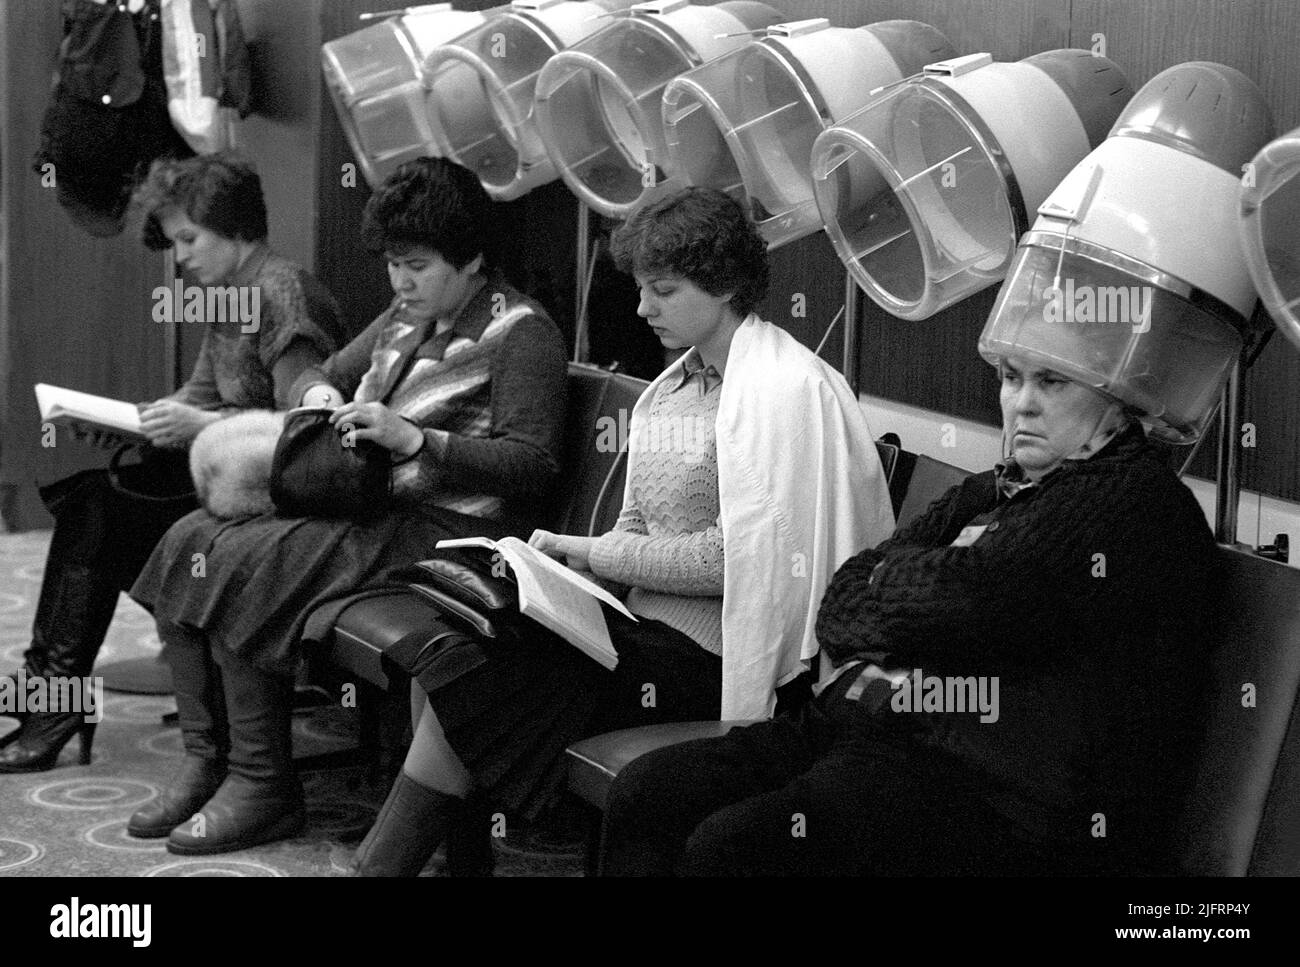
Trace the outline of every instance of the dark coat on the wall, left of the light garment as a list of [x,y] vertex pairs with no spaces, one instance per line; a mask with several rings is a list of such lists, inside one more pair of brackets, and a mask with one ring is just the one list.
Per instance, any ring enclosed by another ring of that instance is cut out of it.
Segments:
[[161,0],[64,0],[53,99],[32,168],[91,235],[122,231],[150,161],[194,152],[168,118]]

